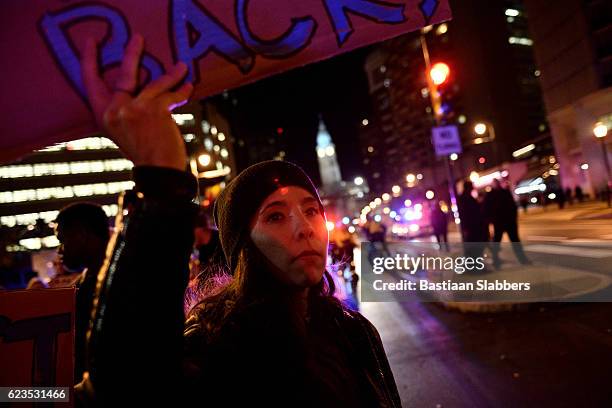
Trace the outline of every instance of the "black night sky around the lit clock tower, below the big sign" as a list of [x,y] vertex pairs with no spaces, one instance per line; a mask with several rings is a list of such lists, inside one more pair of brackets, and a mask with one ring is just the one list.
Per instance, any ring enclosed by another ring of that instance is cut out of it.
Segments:
[[[320,114],[336,145],[343,179],[361,175],[357,132],[370,110],[363,68],[370,50],[361,48],[230,91],[223,110],[234,137],[243,139],[247,148],[249,141],[283,138],[286,160],[301,165],[318,181]],[[278,128],[283,129],[280,135]]]

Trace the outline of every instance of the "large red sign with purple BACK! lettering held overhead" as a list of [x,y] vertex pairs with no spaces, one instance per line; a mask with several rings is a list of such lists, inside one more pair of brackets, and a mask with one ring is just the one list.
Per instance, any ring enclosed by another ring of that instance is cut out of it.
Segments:
[[88,36],[112,76],[132,33],[148,79],[180,61],[194,98],[451,17],[448,0],[3,0],[0,161],[92,134],[79,55]]

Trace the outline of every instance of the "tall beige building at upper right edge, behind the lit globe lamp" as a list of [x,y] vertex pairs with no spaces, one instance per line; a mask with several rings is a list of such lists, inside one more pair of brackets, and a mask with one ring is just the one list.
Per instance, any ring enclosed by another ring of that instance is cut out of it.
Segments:
[[597,124],[612,128],[612,5],[526,0],[540,81],[565,188],[590,194],[609,182]]

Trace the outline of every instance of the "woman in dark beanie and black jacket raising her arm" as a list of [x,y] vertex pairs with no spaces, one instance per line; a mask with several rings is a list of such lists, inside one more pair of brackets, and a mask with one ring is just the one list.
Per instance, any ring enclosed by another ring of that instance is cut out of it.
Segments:
[[172,91],[186,72],[179,64],[136,94],[142,48],[134,36],[114,91],[98,75],[93,43],[84,53],[94,114],[135,162],[142,198],[100,272],[80,398],[104,406],[399,406],[376,330],[333,298],[317,191],[286,162],[250,167],[219,197],[215,222],[234,277],[193,308],[183,336],[195,183],[169,109],[191,86]]

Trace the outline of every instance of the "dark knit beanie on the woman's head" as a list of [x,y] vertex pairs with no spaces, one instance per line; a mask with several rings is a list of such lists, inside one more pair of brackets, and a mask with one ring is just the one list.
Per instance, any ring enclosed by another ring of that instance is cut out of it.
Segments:
[[240,250],[247,242],[249,224],[261,203],[281,187],[297,186],[311,193],[323,205],[317,189],[295,164],[269,160],[243,170],[215,201],[215,224],[230,270],[237,265]]

